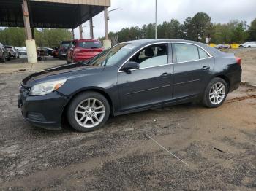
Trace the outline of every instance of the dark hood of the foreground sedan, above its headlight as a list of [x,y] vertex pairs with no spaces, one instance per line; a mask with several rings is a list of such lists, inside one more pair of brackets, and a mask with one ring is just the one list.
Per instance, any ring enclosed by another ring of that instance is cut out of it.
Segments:
[[102,69],[100,66],[89,66],[85,63],[71,63],[61,66],[56,66],[43,71],[30,74],[28,77],[24,78],[22,85],[31,87],[39,82],[46,82],[55,79],[67,79],[75,76],[86,75],[85,71],[92,69]]

